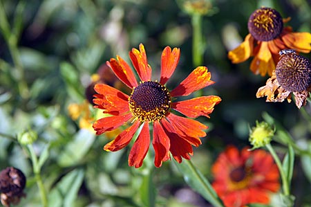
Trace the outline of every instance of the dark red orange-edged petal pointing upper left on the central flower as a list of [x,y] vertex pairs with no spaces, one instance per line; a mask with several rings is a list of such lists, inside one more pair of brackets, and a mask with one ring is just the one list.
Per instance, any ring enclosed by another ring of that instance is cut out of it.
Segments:
[[124,82],[128,87],[133,89],[133,87],[138,86],[131,67],[120,56],[117,56],[117,60],[111,58],[110,62],[107,61],[106,64],[113,70],[113,73],[115,73],[117,78]]

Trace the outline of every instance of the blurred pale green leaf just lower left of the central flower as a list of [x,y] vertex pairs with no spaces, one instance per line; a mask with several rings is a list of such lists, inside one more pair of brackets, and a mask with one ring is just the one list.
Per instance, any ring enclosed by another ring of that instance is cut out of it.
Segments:
[[62,153],[59,154],[57,162],[62,167],[76,165],[84,158],[94,141],[95,134],[87,129],[80,129],[73,141],[68,143]]

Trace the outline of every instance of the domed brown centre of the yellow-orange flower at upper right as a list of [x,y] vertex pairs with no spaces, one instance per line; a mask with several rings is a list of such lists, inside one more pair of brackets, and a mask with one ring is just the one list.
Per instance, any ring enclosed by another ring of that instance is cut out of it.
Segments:
[[272,8],[255,10],[248,19],[248,30],[259,41],[270,41],[278,37],[283,30],[283,19]]

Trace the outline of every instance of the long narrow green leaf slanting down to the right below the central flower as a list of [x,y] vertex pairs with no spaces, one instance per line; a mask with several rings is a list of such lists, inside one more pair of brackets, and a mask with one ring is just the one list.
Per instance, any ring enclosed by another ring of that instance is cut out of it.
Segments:
[[189,186],[196,190],[202,197],[207,199],[214,207],[224,206],[223,202],[217,196],[214,188],[211,187],[209,181],[202,175],[202,173],[194,167],[189,160],[176,163],[178,170],[182,173],[185,181]]

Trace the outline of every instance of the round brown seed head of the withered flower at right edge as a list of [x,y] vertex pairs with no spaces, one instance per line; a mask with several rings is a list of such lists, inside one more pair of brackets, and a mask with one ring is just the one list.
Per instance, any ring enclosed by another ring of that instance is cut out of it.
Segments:
[[311,84],[311,63],[296,53],[281,55],[275,73],[281,87],[290,92],[305,91]]

